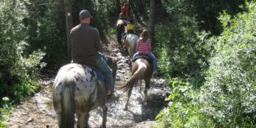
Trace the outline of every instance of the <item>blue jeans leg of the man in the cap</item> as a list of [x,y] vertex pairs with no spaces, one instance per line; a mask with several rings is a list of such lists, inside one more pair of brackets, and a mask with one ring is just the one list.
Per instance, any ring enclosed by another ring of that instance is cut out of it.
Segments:
[[97,69],[99,69],[100,72],[102,72],[102,74],[105,77],[106,89],[113,91],[114,82],[112,77],[112,69],[108,67],[107,61],[105,61],[105,59],[107,58],[104,55],[99,54],[99,57],[96,60],[95,66],[97,67]]

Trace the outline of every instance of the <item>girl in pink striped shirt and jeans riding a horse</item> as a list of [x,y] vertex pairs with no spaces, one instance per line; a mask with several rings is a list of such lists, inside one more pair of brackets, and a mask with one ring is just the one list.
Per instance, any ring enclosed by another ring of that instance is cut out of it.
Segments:
[[137,58],[139,55],[146,55],[153,61],[153,75],[157,74],[157,59],[151,53],[151,39],[149,39],[149,34],[146,29],[143,29],[142,33],[140,34],[140,38],[137,42],[137,53],[133,56],[133,59]]

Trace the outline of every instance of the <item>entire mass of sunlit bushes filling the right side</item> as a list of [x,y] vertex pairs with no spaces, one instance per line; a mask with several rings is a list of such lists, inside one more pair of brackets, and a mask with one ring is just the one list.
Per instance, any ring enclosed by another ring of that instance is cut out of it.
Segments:
[[219,37],[197,35],[195,48],[208,62],[206,82],[197,89],[172,81],[170,104],[157,116],[166,127],[256,127],[255,1],[246,10],[234,18],[223,12]]

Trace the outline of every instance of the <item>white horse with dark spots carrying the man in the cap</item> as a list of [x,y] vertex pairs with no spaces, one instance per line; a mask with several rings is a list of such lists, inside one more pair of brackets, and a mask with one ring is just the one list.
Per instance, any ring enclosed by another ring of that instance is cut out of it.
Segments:
[[[107,58],[113,68],[113,77],[116,78],[118,60],[109,56]],[[75,113],[78,116],[77,127],[89,127],[89,111],[98,106],[102,108],[102,127],[105,128],[108,110],[105,102],[104,80],[99,80],[90,67],[74,63],[59,69],[53,83],[53,107],[60,128],[73,128]]]

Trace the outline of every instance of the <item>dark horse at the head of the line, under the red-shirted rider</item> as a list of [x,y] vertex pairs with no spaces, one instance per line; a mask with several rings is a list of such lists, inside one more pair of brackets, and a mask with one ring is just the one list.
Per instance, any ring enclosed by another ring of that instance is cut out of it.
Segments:
[[122,34],[124,33],[125,26],[127,26],[126,22],[127,21],[125,20],[118,19],[116,23],[117,42],[118,42],[119,48],[121,48],[121,45],[122,45],[121,38],[122,38]]

